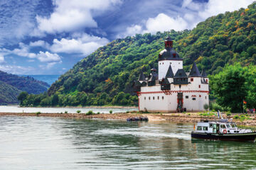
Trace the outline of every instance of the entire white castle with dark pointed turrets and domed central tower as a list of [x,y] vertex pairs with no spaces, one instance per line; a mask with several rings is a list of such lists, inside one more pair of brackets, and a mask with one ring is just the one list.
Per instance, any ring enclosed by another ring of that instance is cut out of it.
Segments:
[[165,49],[159,54],[159,74],[151,69],[149,78],[143,72],[133,87],[139,98],[139,111],[197,112],[209,104],[209,80],[193,63],[190,72],[183,70],[183,59],[173,48],[171,38],[166,38]]

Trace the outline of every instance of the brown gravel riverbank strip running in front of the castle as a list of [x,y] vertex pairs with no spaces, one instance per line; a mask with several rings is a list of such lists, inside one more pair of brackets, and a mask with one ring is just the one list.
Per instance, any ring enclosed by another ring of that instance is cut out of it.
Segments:
[[[109,120],[126,120],[131,117],[147,116],[149,122],[171,121],[175,123],[196,123],[201,119],[213,120],[215,115],[201,115],[201,113],[104,113],[86,115],[85,113],[0,113],[0,116],[44,116],[58,118],[78,118],[78,119],[109,119]],[[255,115],[248,115],[247,120],[235,119],[235,115],[223,114],[223,118],[233,118],[237,125],[256,126]]]

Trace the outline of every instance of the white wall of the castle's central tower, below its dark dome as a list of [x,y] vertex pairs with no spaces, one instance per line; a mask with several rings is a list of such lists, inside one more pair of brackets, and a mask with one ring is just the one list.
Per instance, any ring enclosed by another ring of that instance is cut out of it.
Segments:
[[159,61],[159,79],[163,79],[166,76],[166,73],[171,64],[171,69],[174,74],[178,71],[178,69],[183,69],[183,61],[182,60],[163,60]]

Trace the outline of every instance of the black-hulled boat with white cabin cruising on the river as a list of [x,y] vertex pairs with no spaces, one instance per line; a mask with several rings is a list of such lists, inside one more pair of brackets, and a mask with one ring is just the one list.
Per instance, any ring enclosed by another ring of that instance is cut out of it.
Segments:
[[232,120],[201,120],[191,132],[194,139],[255,142],[256,131],[240,129]]

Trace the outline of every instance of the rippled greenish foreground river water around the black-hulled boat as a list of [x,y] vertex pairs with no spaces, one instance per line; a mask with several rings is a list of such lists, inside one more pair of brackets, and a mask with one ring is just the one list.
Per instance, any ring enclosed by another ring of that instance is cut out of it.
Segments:
[[191,140],[193,124],[0,117],[0,169],[256,169],[255,143]]

